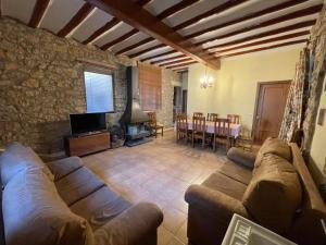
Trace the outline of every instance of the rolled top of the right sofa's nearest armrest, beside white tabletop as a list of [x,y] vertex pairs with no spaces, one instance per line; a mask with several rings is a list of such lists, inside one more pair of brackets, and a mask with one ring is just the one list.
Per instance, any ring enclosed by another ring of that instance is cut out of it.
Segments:
[[189,206],[198,207],[220,217],[231,218],[234,213],[249,217],[240,200],[204,185],[190,185],[186,191],[185,200]]

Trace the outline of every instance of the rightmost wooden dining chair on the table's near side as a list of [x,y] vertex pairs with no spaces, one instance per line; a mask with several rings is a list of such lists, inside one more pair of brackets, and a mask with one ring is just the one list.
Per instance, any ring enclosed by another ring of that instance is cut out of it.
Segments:
[[226,151],[230,148],[230,121],[228,119],[216,119],[214,121],[213,149],[216,150],[216,144],[225,145]]

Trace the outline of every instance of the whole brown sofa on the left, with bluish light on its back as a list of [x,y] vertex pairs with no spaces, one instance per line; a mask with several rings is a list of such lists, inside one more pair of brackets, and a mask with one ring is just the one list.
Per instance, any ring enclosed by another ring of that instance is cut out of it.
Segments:
[[163,220],[152,204],[131,205],[77,157],[45,164],[12,144],[0,157],[7,245],[154,245]]

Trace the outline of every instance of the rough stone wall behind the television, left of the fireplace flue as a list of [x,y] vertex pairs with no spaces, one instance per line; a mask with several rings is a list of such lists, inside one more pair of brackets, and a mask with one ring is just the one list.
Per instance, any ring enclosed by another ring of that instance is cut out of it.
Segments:
[[0,147],[18,140],[40,154],[63,149],[68,114],[86,111],[80,59],[117,66],[116,113],[109,115],[117,120],[126,105],[128,59],[0,19]]

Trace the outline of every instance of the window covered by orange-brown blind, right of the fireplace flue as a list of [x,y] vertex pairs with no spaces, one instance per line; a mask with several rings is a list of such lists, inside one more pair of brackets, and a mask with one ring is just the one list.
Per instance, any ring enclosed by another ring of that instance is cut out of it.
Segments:
[[139,64],[140,105],[145,111],[161,109],[162,74],[153,65]]

